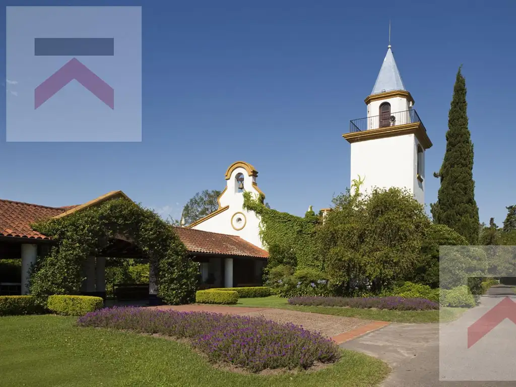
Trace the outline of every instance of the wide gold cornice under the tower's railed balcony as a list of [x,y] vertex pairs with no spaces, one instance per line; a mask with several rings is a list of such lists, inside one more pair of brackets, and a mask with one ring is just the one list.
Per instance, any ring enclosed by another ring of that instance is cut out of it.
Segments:
[[349,143],[353,143],[374,140],[377,138],[404,136],[406,134],[415,135],[425,150],[431,148],[433,145],[421,122],[369,129],[362,132],[345,133],[342,137],[344,137]]

